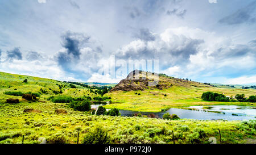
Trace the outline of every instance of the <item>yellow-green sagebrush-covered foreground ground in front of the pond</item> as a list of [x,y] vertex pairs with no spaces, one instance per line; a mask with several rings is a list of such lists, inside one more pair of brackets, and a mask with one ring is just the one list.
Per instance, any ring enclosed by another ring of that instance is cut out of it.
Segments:
[[[43,111],[40,114],[23,113],[25,108]],[[55,109],[68,111],[67,115],[54,114]],[[0,143],[40,143],[40,137],[47,143],[77,143],[96,127],[108,131],[110,143],[209,143],[215,137],[220,143],[249,143],[255,140],[255,120],[248,122],[223,120],[163,120],[150,118],[129,118],[123,116],[96,116],[74,111],[65,103],[0,103]]]

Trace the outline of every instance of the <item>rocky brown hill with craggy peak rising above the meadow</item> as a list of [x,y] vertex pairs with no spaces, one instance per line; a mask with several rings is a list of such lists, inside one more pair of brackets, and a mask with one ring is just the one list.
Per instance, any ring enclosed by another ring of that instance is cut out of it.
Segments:
[[[137,73],[137,74],[135,74]],[[159,78],[157,78],[159,76]],[[158,80],[154,80],[158,79]],[[156,82],[154,86],[149,85],[149,82]],[[118,85],[113,87],[110,92],[113,91],[137,91],[137,90],[146,90],[146,89],[168,89],[172,86],[181,86],[181,87],[212,87],[205,85],[204,83],[187,81],[184,79],[174,78],[166,76],[166,74],[157,74],[144,72],[141,70],[134,70],[129,73],[129,75],[122,79]]]

